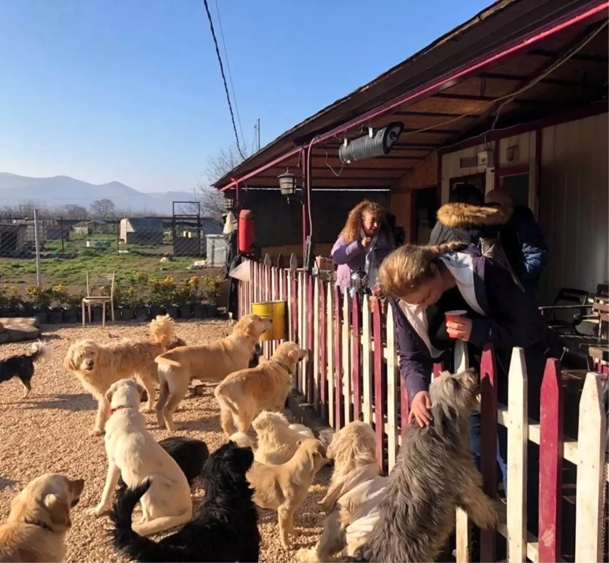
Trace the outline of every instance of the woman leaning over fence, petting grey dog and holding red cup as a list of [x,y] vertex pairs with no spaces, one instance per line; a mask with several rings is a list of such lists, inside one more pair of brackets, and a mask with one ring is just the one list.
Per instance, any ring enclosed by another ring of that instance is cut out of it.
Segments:
[[[510,273],[484,257],[473,244],[406,244],[394,250],[379,271],[390,296],[400,357],[400,373],[409,398],[409,422],[431,422],[429,384],[433,364],[450,359],[457,339],[466,343],[472,366],[479,366],[485,344],[496,353],[499,402],[507,405],[507,374],[512,349],[523,347],[527,364],[529,416],[539,419],[540,387],[548,357],[560,357],[560,342],[544,323],[535,300]],[[446,311],[466,316],[447,322]],[[451,368],[452,369],[452,368]],[[480,455],[479,414],[472,416],[471,446]],[[499,433],[499,462],[505,470],[506,441]],[[529,442],[529,445],[532,445]],[[530,448],[529,448],[530,449]],[[538,448],[529,451],[527,508],[537,522]],[[505,475],[504,475],[505,483]],[[533,531],[533,530],[531,530]]]

